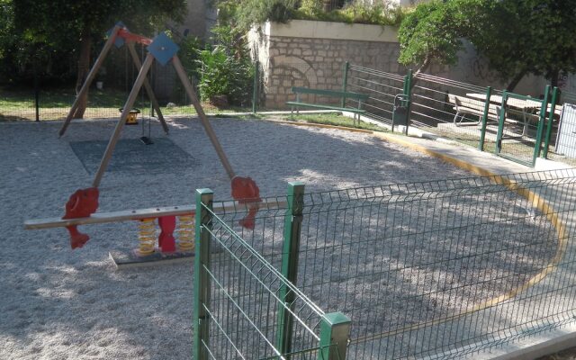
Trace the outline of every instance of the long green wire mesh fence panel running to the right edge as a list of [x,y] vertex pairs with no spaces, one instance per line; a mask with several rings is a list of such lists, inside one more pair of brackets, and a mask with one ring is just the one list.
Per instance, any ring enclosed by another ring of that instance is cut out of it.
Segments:
[[[302,202],[276,206],[291,198]],[[221,211],[218,228],[237,235],[210,242],[231,251],[238,238],[238,251],[250,248],[290,277],[302,302],[346,315],[348,358],[461,357],[576,319],[574,199],[575,170],[321,193],[296,187],[288,198],[265,199],[255,229],[238,225],[246,209]],[[236,268],[222,274],[234,279],[229,293],[258,294],[246,295],[245,306],[266,319],[258,327],[276,328],[278,302],[267,293],[258,302],[264,292]],[[260,274],[273,281],[276,273]],[[296,309],[304,309],[296,319],[320,320],[311,307]]]

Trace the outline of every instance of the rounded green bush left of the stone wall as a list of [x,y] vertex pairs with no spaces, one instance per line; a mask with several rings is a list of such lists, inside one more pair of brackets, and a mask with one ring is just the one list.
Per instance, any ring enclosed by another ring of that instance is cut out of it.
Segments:
[[229,26],[216,27],[212,32],[215,45],[199,51],[202,100],[226,95],[230,104],[245,104],[252,92],[254,68],[242,39],[235,37]]

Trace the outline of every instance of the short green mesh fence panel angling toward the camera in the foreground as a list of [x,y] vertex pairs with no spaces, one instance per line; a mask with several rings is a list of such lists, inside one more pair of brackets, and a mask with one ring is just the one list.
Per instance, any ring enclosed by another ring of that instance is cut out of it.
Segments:
[[194,359],[345,359],[350,320],[320,310],[231,229],[210,190],[196,205]]

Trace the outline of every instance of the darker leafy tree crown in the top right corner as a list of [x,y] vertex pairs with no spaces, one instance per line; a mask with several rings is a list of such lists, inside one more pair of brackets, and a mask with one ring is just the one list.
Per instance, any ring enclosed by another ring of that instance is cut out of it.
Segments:
[[575,20],[576,0],[504,0],[470,38],[508,90],[527,74],[557,85],[561,71],[576,71]]

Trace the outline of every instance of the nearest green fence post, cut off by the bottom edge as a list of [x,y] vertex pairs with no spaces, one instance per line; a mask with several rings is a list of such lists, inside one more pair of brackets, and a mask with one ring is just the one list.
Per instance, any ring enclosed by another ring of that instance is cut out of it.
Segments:
[[320,321],[318,360],[346,360],[350,318],[341,312],[324,314]]

